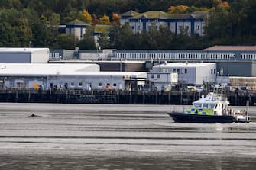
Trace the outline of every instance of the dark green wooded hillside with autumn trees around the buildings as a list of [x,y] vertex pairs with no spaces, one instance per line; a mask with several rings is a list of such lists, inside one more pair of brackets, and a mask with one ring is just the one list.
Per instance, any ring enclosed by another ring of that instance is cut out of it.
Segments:
[[[222,2],[222,3],[221,3]],[[0,47],[50,47],[96,49],[92,30],[78,42],[73,35],[58,34],[59,24],[81,18],[84,9],[96,16],[112,16],[126,11],[168,11],[170,6],[188,6],[186,12],[208,10],[205,36],[173,34],[166,27],[151,27],[134,34],[129,25],[115,25],[109,35],[102,34],[102,48],[117,49],[202,49],[215,44],[254,44],[256,40],[256,1],[228,0],[1,0]],[[222,5],[221,5],[222,4]],[[118,23],[115,18],[110,20]],[[109,20],[108,20],[109,23]],[[109,44],[110,37],[110,44]],[[31,42],[31,43],[30,43]]]

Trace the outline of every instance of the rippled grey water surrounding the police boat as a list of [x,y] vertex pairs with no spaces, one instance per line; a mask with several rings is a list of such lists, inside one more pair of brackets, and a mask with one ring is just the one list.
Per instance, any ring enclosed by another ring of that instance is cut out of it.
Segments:
[[0,107],[0,169],[256,168],[254,122],[173,123],[173,106],[157,105]]

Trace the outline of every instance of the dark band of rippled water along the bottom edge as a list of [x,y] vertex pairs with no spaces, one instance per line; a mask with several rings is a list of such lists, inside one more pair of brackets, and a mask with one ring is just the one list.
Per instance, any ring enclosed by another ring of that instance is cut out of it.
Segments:
[[166,157],[0,156],[1,169],[255,169],[255,159],[208,155]]

